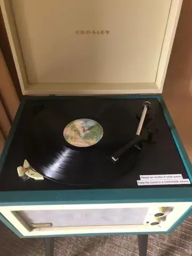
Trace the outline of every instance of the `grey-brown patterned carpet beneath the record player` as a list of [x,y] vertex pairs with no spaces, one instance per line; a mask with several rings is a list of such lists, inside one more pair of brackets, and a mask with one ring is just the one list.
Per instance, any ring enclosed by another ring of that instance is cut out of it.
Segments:
[[[19,238],[0,223],[1,256],[43,256],[41,238]],[[148,256],[191,256],[192,216],[170,235],[149,236]],[[62,237],[55,256],[138,256],[137,236]]]

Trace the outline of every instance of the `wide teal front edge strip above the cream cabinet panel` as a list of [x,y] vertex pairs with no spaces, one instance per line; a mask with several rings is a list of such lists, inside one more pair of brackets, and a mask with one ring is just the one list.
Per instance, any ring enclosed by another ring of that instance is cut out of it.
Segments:
[[192,186],[144,189],[2,191],[0,205],[192,202]]

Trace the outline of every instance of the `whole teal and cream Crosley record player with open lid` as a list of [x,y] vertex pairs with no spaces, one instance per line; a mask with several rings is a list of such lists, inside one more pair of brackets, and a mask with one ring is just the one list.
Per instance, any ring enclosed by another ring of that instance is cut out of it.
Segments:
[[17,235],[163,234],[190,214],[161,95],[181,2],[1,0],[23,98],[0,218]]

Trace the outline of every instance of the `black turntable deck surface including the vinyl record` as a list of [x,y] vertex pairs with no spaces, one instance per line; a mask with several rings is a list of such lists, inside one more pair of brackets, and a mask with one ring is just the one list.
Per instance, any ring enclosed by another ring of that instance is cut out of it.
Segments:
[[[146,100],[151,107],[143,123],[143,139],[113,162],[113,153],[134,139]],[[82,118],[100,125],[88,146],[76,145],[74,138],[69,141],[63,134],[68,124]],[[44,180],[18,176],[17,167],[25,159]],[[137,180],[147,174],[181,174],[188,179],[158,99],[26,97],[2,166],[0,190],[139,188]],[[167,186],[178,185],[161,187]]]

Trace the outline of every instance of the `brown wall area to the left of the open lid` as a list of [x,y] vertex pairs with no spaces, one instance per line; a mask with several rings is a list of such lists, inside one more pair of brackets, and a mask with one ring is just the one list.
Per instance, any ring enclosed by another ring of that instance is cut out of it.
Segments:
[[19,106],[18,82],[0,10],[0,155]]

